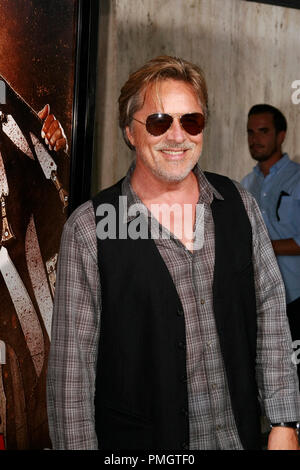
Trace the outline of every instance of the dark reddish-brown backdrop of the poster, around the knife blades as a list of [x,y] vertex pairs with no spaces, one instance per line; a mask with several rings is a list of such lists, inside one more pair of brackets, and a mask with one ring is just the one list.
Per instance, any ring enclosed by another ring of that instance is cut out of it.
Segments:
[[[65,130],[69,146],[76,7],[75,0],[0,0],[0,75],[35,111],[50,104],[51,112]],[[11,114],[14,116],[14,110]],[[24,112],[24,125],[26,122]],[[70,150],[69,147],[69,153]],[[9,186],[9,195],[3,199],[5,217],[14,233],[8,242],[2,238],[0,249],[4,247],[9,253],[20,275],[43,338],[43,365],[37,374],[20,313],[0,272],[0,341],[6,350],[6,360],[0,364],[0,435],[7,449],[49,448],[45,384],[50,338],[36,298],[39,286],[33,285],[29,275],[25,241],[33,217],[50,289],[53,273],[49,274],[46,264],[58,253],[67,211],[63,210],[57,188],[45,178],[38,162],[23,155],[3,133],[0,152]],[[65,152],[58,152],[53,158],[60,181],[68,190],[70,158]],[[1,231],[5,217],[2,211]]]

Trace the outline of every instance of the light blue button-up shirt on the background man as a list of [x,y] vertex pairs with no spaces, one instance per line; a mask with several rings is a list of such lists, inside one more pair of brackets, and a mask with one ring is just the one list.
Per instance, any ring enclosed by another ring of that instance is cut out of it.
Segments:
[[[300,165],[285,153],[264,177],[257,164],[241,184],[258,202],[271,240],[293,238],[300,246]],[[300,256],[277,256],[287,303],[300,297]]]

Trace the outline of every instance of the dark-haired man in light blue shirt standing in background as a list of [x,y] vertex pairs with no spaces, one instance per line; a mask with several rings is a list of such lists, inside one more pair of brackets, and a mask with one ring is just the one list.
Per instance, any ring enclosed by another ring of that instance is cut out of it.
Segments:
[[[285,284],[293,340],[300,340],[300,165],[282,152],[287,122],[267,104],[248,114],[248,143],[258,163],[242,185],[261,209]],[[299,376],[298,365],[298,376]]]

